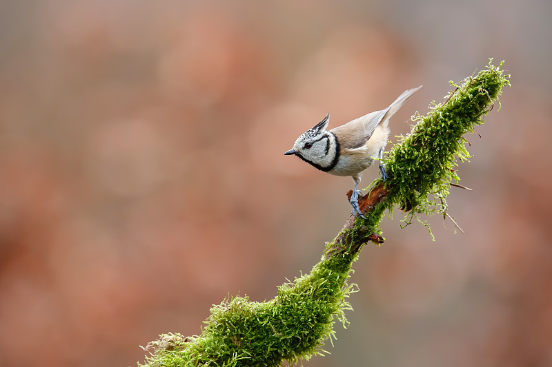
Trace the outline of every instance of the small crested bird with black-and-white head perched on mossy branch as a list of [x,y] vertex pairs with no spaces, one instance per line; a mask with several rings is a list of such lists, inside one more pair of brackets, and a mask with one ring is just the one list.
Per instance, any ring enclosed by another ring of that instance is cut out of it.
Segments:
[[301,134],[295,140],[293,148],[284,155],[295,155],[328,174],[351,176],[355,182],[349,200],[353,206],[353,216],[366,219],[358,205],[358,196],[362,193],[357,190],[361,174],[377,159],[380,161],[383,180],[388,179],[382,157],[390,133],[389,118],[421,87],[422,85],[404,91],[389,107],[381,111],[355,118],[331,130],[326,129],[330,122],[330,114],[326,114],[322,121]]

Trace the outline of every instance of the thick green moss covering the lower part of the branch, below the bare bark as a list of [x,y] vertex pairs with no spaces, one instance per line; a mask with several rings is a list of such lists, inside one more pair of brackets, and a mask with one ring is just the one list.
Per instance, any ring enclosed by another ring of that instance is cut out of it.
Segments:
[[333,324],[346,324],[351,259],[326,258],[311,273],[279,286],[269,302],[234,297],[211,308],[201,337],[161,335],[149,366],[279,366],[322,354]]

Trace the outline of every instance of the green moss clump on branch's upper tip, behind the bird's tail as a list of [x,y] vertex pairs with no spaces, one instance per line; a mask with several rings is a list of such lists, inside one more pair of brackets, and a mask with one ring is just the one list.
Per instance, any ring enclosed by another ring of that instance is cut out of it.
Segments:
[[[458,182],[455,167],[470,158],[463,135],[473,132],[502,87],[509,85],[509,75],[489,61],[487,70],[466,78],[462,85],[451,82],[455,90],[439,105],[433,103],[426,116],[415,116],[416,125],[391,149],[384,159],[391,179],[386,207],[398,205],[411,209],[406,222],[416,213],[445,213],[446,196],[451,182]],[[422,222],[422,224],[424,224]]]

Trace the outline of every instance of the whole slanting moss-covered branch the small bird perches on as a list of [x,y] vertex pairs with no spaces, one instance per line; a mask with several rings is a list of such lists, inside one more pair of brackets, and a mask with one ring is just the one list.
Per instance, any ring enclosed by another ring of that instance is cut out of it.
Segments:
[[[492,60],[491,60],[492,61]],[[456,160],[469,157],[462,136],[483,123],[509,75],[492,65],[466,78],[427,116],[413,118],[411,134],[400,138],[385,164],[390,178],[375,180],[360,200],[366,216],[349,218],[337,237],[326,244],[311,273],[279,286],[268,302],[233,297],[211,308],[201,335],[161,335],[146,346],[144,366],[279,366],[324,354],[336,320],[346,326],[346,302],[355,287],[347,284],[351,265],[366,242],[382,243],[379,224],[395,205],[417,213],[445,213],[451,182],[459,180]]]

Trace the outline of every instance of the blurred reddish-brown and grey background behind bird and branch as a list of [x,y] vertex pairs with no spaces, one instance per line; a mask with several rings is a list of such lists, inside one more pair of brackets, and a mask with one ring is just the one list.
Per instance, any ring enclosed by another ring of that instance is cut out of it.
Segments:
[[[435,242],[400,211],[305,366],[552,366],[552,3],[0,1],[0,366],[134,366],[227,295],[272,298],[353,181],[283,156],[506,60]],[[396,138],[393,138],[396,141]],[[377,176],[364,174],[364,185]]]

